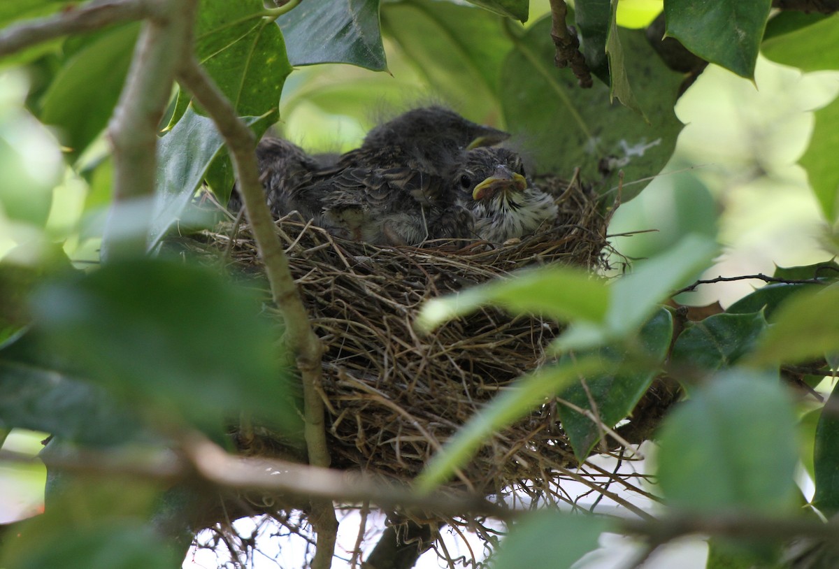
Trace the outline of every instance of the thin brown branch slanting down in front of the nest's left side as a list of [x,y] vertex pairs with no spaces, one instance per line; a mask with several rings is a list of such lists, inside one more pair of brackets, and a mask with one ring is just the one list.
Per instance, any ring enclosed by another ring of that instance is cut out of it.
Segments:
[[[195,99],[210,114],[233,161],[233,168],[239,180],[238,190],[248,214],[248,221],[256,238],[259,255],[265,264],[268,282],[274,303],[282,311],[285,321],[285,340],[296,358],[297,368],[303,383],[304,435],[309,463],[316,467],[328,467],[331,459],[326,444],[326,420],[324,417],[321,388],[320,358],[323,347],[309,321],[303,300],[289,269],[289,260],[274,232],[274,222],[268,212],[262,182],[259,180],[255,154],[256,138],[213,83],[194,56],[181,64],[180,81],[192,91]],[[338,521],[335,509],[328,501],[312,504],[318,534],[318,547],[313,569],[329,567],[335,549]]]

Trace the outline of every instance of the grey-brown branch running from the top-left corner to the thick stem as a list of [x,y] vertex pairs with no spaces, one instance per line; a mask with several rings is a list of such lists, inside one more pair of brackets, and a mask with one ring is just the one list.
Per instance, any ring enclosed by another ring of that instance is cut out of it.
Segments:
[[0,57],[62,35],[90,32],[145,15],[142,0],[107,0],[70,8],[50,18],[13,24],[0,32]]

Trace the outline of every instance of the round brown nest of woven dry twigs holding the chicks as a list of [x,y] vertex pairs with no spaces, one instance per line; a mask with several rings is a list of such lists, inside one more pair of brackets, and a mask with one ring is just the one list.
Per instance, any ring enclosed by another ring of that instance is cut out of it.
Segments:
[[[555,321],[484,308],[428,336],[414,331],[426,300],[542,264],[603,269],[608,214],[579,182],[546,179],[559,215],[534,235],[493,248],[375,247],[333,237],[294,214],[276,231],[323,342],[323,397],[333,467],[408,480],[466,420],[545,361]],[[252,272],[261,261],[249,227],[205,232],[216,251]],[[555,478],[574,459],[544,405],[487,441],[459,484],[485,495],[517,481]]]

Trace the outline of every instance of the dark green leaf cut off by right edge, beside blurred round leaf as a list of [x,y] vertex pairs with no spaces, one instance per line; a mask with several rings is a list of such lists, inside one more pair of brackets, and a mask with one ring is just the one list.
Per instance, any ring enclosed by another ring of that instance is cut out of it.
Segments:
[[831,516],[839,511],[839,413],[836,401],[839,387],[821,410],[816,425],[816,443],[813,447],[813,469],[816,472],[816,493],[813,504]]

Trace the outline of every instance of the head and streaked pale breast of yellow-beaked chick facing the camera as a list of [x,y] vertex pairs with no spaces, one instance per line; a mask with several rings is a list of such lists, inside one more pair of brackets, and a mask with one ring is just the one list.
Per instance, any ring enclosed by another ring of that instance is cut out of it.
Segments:
[[513,150],[469,150],[450,180],[454,202],[472,213],[475,235],[490,243],[532,233],[559,212],[550,195],[530,185]]

